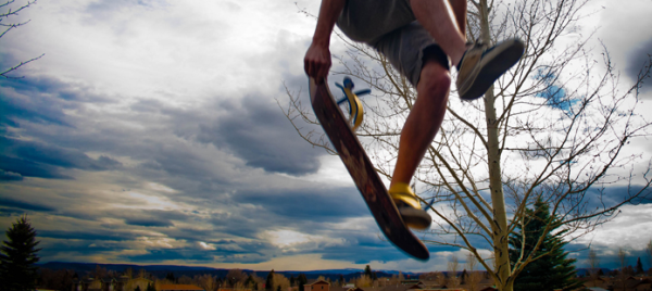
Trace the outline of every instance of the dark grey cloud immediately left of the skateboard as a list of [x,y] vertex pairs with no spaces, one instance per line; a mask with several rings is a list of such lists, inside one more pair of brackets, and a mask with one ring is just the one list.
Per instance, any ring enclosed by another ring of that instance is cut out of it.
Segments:
[[200,126],[201,142],[226,148],[248,166],[267,172],[301,176],[319,168],[318,156],[323,152],[302,140],[268,99],[247,96],[218,106],[225,114],[212,124]]

